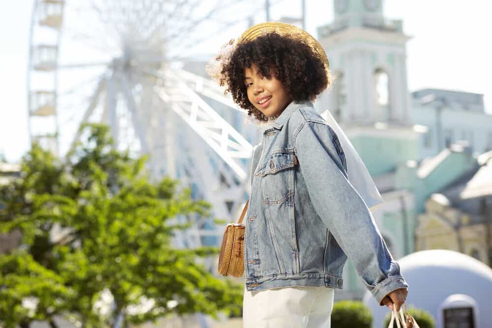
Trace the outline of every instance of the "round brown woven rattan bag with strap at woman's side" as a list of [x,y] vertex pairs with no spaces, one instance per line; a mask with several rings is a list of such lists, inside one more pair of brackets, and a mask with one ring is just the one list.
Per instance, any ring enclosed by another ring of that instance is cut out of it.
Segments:
[[238,223],[229,223],[225,227],[218,258],[218,272],[224,276],[241,277],[245,270],[245,225],[243,224],[243,217],[246,214],[247,203]]

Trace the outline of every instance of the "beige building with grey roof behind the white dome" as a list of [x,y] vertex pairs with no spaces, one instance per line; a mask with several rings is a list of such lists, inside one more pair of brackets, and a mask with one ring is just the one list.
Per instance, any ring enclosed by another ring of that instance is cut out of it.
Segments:
[[[460,170],[452,164],[439,163]],[[492,151],[427,199],[415,237],[416,250],[453,250],[492,266]]]

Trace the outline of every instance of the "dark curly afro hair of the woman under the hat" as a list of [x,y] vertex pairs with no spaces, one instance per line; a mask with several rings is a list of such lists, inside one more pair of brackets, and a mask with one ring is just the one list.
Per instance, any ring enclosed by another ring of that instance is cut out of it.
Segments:
[[269,32],[236,46],[231,40],[223,48],[227,46],[233,47],[232,51],[216,56],[218,67],[214,72],[209,66],[208,72],[220,86],[226,86],[225,94],[230,92],[234,102],[260,121],[268,118],[251,104],[244,83],[245,68],[251,64],[266,78],[271,77],[274,66],[275,77],[295,102],[314,101],[330,85],[331,75],[323,61],[298,38]]

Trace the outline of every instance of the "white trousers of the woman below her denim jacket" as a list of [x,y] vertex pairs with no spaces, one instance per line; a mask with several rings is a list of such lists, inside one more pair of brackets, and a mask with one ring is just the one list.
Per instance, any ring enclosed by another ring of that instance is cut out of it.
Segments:
[[335,290],[327,287],[246,289],[243,328],[330,328]]

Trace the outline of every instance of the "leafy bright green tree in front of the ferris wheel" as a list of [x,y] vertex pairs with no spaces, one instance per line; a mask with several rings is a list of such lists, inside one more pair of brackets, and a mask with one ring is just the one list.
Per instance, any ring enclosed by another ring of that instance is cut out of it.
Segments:
[[[0,187],[0,230],[23,233],[24,254],[9,256],[31,259],[24,274],[39,268],[38,276],[51,277],[53,287],[36,290],[41,287],[23,282],[14,266],[0,266],[0,291],[8,291],[0,299],[0,323],[29,327],[32,320],[51,320],[56,327],[53,316],[63,315],[82,327],[115,327],[120,319],[136,324],[169,314],[238,313],[242,287],[197,264],[218,248],[171,246],[174,233],[192,222],[174,218],[210,216],[210,205],[193,200],[178,181],[151,181],[146,157],[115,150],[107,126],[84,129],[87,139],[66,162],[33,146],[21,179]],[[4,277],[18,281],[22,295]],[[30,312],[22,309],[27,297],[37,302]],[[102,301],[108,297],[111,307]],[[45,303],[58,305],[40,306]],[[12,306],[19,314],[4,315]]]

